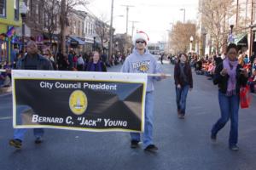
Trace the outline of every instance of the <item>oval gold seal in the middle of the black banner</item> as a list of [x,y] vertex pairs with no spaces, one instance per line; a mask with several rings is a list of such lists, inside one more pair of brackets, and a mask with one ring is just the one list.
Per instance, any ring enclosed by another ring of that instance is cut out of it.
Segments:
[[69,97],[69,108],[75,115],[83,115],[86,111],[88,100],[81,90],[75,90]]

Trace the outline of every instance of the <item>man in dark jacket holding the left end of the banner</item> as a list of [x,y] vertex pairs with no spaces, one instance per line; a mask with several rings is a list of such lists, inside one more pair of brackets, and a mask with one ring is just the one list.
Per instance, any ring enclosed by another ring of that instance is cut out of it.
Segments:
[[[38,54],[38,46],[36,42],[30,41],[27,43],[27,54],[21,59],[19,70],[53,70],[53,67],[48,59]],[[22,106],[17,108],[21,112],[32,112],[32,108],[27,106]],[[26,133],[26,128],[15,129],[14,139],[9,140],[9,144],[15,148],[20,148],[24,135]],[[34,135],[36,137],[35,143],[40,144],[42,142],[42,137],[44,135],[43,128],[34,128]]]

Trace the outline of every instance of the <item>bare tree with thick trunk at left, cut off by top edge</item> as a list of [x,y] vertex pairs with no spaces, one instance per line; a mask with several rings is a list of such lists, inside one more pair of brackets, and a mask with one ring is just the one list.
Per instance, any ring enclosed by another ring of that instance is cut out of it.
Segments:
[[61,53],[66,52],[66,27],[69,25],[67,16],[73,14],[73,8],[77,6],[86,6],[89,0],[61,0],[61,16],[60,16],[60,26],[61,26]]

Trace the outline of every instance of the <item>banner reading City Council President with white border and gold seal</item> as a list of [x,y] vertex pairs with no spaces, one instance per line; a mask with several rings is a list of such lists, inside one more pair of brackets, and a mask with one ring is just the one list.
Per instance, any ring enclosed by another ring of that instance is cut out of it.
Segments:
[[14,127],[143,132],[147,80],[136,73],[13,70]]

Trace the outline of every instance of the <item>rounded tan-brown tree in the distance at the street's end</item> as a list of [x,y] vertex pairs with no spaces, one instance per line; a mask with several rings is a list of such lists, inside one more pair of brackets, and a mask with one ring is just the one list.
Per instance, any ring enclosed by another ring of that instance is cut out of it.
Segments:
[[194,39],[196,39],[195,31],[196,26],[194,23],[188,22],[183,24],[181,22],[177,22],[177,24],[173,26],[172,32],[170,34],[172,51],[174,51],[176,54],[180,52],[188,52],[190,43],[189,38],[193,36]]

